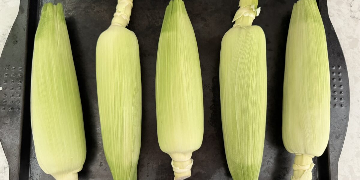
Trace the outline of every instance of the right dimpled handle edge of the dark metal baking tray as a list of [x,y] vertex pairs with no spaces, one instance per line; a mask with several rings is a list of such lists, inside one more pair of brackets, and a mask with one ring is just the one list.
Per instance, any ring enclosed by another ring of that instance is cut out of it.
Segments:
[[320,0],[320,13],[323,19],[329,55],[331,87],[330,139],[327,150],[331,180],[338,179],[338,162],[344,144],[350,113],[350,86],[345,57],[330,21],[327,0]]

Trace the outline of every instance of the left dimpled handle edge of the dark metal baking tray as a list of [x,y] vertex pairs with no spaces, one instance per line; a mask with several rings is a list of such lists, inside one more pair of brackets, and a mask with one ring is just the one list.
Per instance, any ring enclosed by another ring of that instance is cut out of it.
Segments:
[[9,163],[10,179],[18,179],[20,169],[29,3],[20,1],[0,58],[0,141]]

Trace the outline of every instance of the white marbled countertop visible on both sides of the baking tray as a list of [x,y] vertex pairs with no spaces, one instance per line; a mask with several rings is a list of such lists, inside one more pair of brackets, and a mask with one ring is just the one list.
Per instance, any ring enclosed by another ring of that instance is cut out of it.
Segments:
[[[339,180],[360,180],[360,0],[328,0],[328,8],[345,54],[350,79],[350,119],[339,161]],[[19,0],[0,0],[0,52],[18,10]],[[1,146],[0,179],[9,179],[9,168]]]

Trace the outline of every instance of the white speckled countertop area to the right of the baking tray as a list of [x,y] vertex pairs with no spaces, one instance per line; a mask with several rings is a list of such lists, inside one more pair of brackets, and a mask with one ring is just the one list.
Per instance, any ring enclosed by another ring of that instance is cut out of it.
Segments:
[[360,0],[328,0],[328,8],[350,82],[350,118],[339,161],[339,180],[360,180]]

